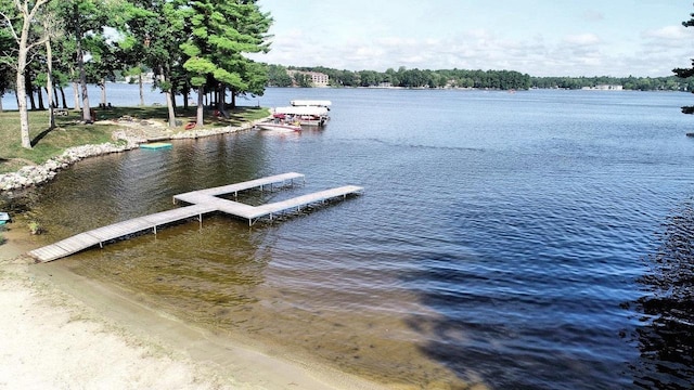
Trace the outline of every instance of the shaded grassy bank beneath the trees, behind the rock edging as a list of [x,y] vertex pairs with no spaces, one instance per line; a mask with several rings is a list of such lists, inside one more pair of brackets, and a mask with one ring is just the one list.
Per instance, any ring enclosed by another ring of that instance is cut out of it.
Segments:
[[[72,146],[110,142],[111,134],[119,127],[113,121],[114,125],[103,125],[100,121],[125,116],[160,121],[167,119],[167,108],[163,106],[97,108],[95,113],[99,121],[95,125],[83,125],[80,112],[69,110],[67,116],[55,117],[56,128],[49,130],[48,112],[29,112],[29,136],[34,145],[31,150],[22,147],[18,112],[0,113],[0,173],[16,171],[25,165],[42,164]],[[229,118],[217,118],[206,113],[205,127],[240,126],[265,118],[269,112],[259,107],[240,107],[230,114]],[[177,120],[181,126],[174,131],[184,131],[184,125],[195,120],[195,107],[177,109]]]

